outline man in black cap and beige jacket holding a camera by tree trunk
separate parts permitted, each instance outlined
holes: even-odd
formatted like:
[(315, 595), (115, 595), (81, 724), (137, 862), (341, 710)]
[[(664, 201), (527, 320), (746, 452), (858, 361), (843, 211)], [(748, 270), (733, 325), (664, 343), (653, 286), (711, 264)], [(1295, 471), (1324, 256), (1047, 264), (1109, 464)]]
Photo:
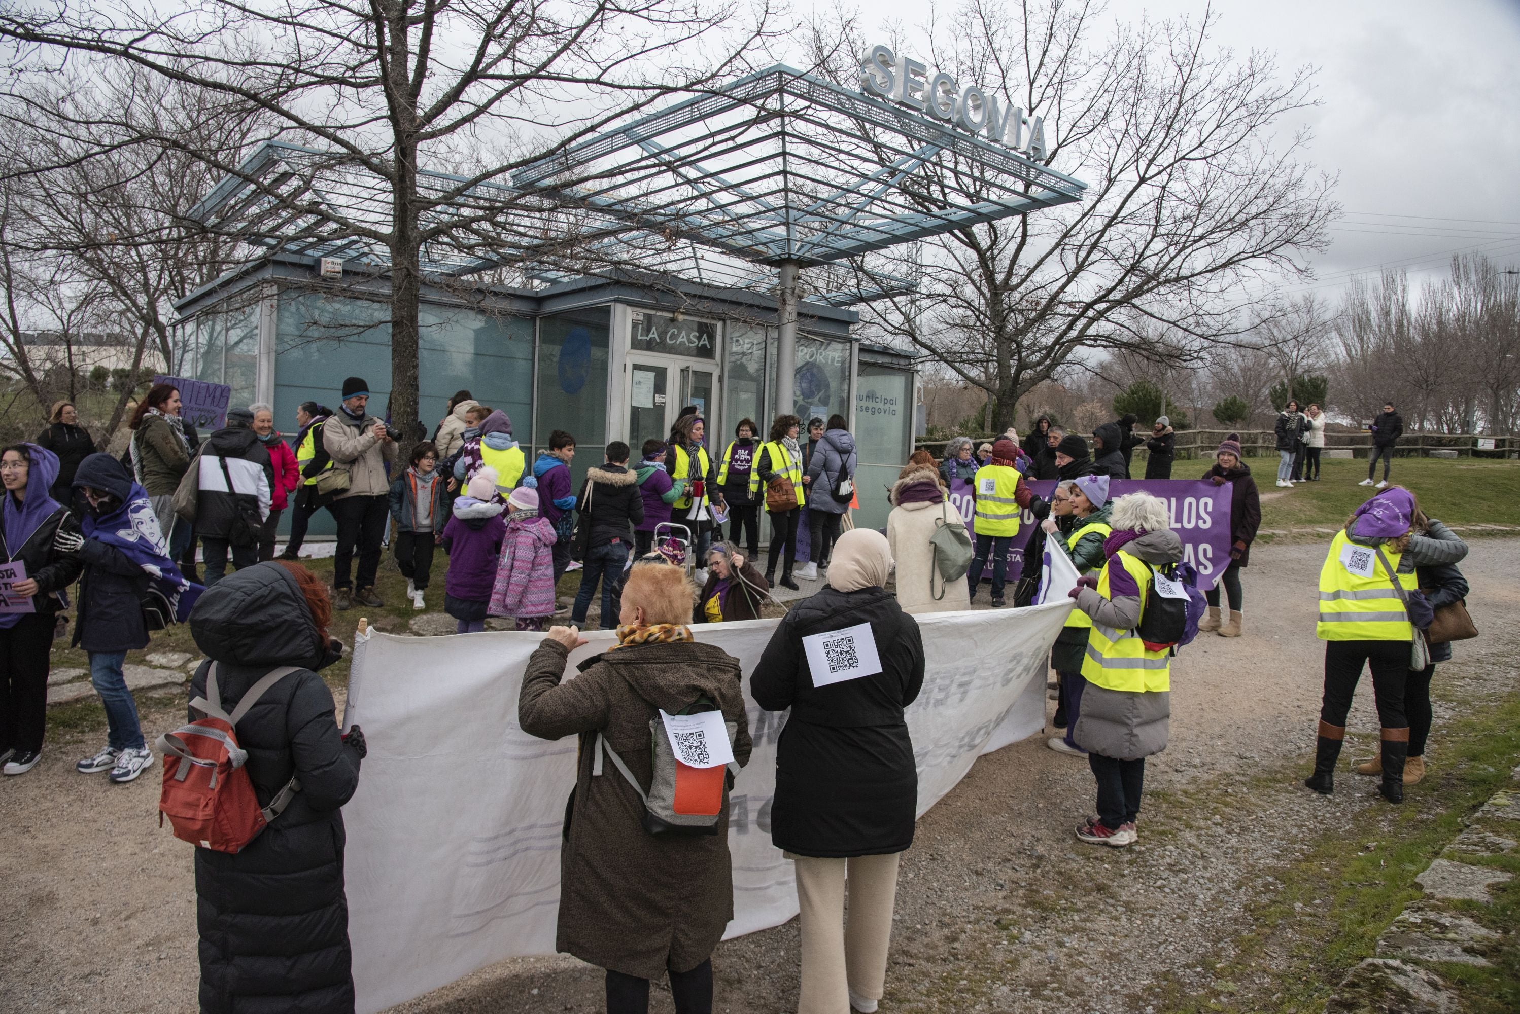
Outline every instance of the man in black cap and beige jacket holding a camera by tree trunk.
[[(369, 384), (359, 376), (344, 381), (344, 402), (322, 425), (322, 446), (334, 468), (348, 472), (348, 489), (337, 493), (328, 510), (337, 519), (337, 550), (333, 554), (333, 606), (353, 609), (385, 606), (375, 595), (380, 569), (380, 542), (391, 516), (386, 461), (395, 463), (395, 442), (401, 433), (365, 411)], [(350, 583), (354, 546), (359, 546), (359, 590)]]

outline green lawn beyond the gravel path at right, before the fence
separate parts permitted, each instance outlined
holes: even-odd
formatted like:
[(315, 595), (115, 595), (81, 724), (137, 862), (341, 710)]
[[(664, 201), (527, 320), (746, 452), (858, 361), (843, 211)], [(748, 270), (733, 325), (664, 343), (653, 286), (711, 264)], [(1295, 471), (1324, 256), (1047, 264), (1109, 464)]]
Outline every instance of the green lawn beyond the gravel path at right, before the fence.
[[(1300, 483), (1294, 489), (1272, 484), (1275, 458), (1246, 458), (1246, 464), (1262, 492), (1263, 528), (1338, 528), (1377, 492), (1357, 486), (1366, 478), (1363, 458), (1325, 458), (1318, 483)], [(1414, 490), (1420, 507), (1449, 525), (1520, 525), (1520, 461), (1395, 458), (1389, 481)]]

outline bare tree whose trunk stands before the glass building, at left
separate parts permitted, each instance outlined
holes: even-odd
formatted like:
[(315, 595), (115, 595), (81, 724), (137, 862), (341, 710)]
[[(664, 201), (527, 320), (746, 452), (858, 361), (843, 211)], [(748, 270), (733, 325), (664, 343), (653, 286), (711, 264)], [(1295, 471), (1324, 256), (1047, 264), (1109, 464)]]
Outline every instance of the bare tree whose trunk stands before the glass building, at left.
[[(663, 96), (704, 88), (763, 39), (768, 17), (762, 5), (736, 27), (737, 5), (681, 0), (55, 0), (0, 12), (0, 36), (33, 76), (81, 58), (126, 62), (205, 93), (211, 106), (260, 111), (277, 137), (321, 149), (295, 178), (263, 175), (135, 108), (111, 118), (240, 181), (257, 228), (293, 225), (388, 252), (389, 411), (404, 424), (418, 414), (424, 250), (496, 243), (511, 214), (529, 209), (496, 184)], [(439, 185), (424, 162), (470, 168)], [(334, 173), (378, 187), (378, 214), (324, 199), (313, 184)]]

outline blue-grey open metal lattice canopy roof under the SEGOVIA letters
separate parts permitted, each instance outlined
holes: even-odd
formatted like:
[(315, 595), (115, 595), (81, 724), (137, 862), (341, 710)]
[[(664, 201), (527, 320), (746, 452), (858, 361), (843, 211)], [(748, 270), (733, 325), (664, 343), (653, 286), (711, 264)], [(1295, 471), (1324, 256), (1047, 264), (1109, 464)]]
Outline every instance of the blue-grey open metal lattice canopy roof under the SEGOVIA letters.
[[(933, 185), (926, 175), (933, 173)], [(527, 288), (632, 269), (772, 291), (760, 264), (825, 266), (812, 296), (851, 305), (917, 281), (868, 255), (1037, 208), (1085, 185), (1009, 149), (775, 65), (518, 170), (511, 185), (420, 172), (453, 228), (423, 250), (432, 276), (508, 269)], [(190, 217), (245, 241), (374, 267), (391, 191), (344, 152), (266, 141)], [(901, 258), (910, 260), (910, 258)]]

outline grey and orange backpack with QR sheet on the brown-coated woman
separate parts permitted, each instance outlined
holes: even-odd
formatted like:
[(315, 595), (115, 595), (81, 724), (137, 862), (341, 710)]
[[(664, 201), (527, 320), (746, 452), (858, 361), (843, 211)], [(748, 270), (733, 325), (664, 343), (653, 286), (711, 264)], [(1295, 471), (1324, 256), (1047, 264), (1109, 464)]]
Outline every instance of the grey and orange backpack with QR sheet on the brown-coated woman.
[[(707, 697), (699, 697), (679, 713), (717, 710), (717, 706)], [(739, 723), (725, 721), (728, 745), (734, 745), (739, 733)], [(716, 768), (689, 768), (678, 764), (670, 741), (666, 738), (664, 723), (655, 713), (649, 720), (649, 760), (654, 777), (649, 791), (644, 792), (638, 779), (628, 770), (623, 759), (617, 756), (606, 736), (596, 733), (596, 757), (591, 760), (591, 777), (602, 774), (602, 753), (613, 760), (613, 767), (623, 779), (634, 786), (638, 798), (644, 803), (644, 830), (651, 835), (716, 835), (717, 818), (724, 812), (724, 794), (728, 791), (728, 774), (739, 774), (737, 764)]]

